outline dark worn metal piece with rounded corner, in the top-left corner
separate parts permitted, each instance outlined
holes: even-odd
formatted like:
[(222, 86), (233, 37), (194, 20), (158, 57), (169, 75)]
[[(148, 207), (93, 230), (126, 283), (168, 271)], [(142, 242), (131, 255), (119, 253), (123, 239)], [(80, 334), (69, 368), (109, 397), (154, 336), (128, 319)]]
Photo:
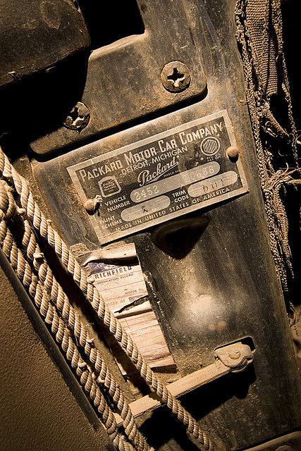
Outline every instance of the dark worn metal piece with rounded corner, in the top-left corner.
[(49, 68), (90, 44), (72, 0), (1, 0), (0, 86)]

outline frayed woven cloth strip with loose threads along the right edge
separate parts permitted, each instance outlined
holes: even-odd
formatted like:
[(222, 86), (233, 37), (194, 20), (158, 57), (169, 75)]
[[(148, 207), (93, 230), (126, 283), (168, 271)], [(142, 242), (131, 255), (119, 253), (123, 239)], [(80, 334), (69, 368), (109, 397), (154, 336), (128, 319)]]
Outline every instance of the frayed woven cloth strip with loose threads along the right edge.
[(281, 2), (238, 0), (235, 20), (271, 253), (293, 322), (293, 264), (286, 196), (287, 183), (293, 177), (300, 178), (300, 171), (297, 133), (283, 53)]

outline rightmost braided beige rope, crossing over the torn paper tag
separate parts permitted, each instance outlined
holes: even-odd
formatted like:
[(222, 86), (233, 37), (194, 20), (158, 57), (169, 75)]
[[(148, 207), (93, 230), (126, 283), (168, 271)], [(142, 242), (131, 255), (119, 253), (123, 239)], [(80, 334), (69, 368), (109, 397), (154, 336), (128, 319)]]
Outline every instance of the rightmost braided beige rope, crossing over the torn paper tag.
[(70, 253), (68, 246), (61, 239), (59, 234), (51, 226), (51, 223), (47, 221), (42, 211), (39, 209), (37, 202), (32, 196), (30, 187), (27, 181), (18, 174), (13, 168), (10, 161), (4, 152), (0, 149), (0, 173), (8, 180), (20, 196), (20, 204), (25, 209), (27, 217), (32, 222), (33, 227), (37, 230), (37, 233), (41, 235), (49, 245), (56, 252), (57, 257), (61, 260), (61, 263), (66, 268), (68, 273), (73, 276), (73, 280), (82, 290), (86, 299), (92, 305), (92, 308), (97, 313), (99, 319), (104, 325), (109, 328), (113, 333), (116, 340), (120, 343), (121, 347), (128, 355), (130, 360), (136, 366), (142, 378), (148, 383), (148, 385), (154, 390), (156, 395), (167, 405), (171, 412), (176, 415), (179, 421), (181, 421), (186, 427), (188, 433), (192, 435), (199, 443), (204, 447), (205, 451), (217, 451), (218, 448), (212, 442), (211, 438), (202, 431), (197, 421), (187, 412), (182, 404), (171, 395), (166, 388), (166, 385), (159, 380), (156, 374), (150, 369), (149, 365), (140, 354), (137, 349), (137, 345), (133, 342), (133, 339), (123, 330), (121, 323), (111, 313), (110, 309), (106, 307), (104, 299), (99, 295), (97, 288), (87, 280), (85, 271), (82, 270), (78, 261), (75, 260), (73, 254)]

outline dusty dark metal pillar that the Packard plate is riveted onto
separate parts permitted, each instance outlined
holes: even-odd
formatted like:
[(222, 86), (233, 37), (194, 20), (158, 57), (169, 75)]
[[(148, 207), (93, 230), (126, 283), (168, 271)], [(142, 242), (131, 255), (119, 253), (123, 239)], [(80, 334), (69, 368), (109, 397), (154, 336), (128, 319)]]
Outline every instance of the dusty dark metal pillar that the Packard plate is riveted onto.
[[(48, 161), (32, 161), (32, 167), (49, 210), (55, 212), (56, 226), (68, 244), (82, 242), (90, 250), (97, 249), (99, 239), (71, 183), (68, 166), (104, 156), (145, 137), (165, 132), (171, 126), (177, 127), (221, 110), (228, 111), (250, 192), (135, 233), (125, 241), (135, 242), (147, 280), (149, 300), (178, 367), (177, 377), (197, 371), (200, 363), (212, 364), (214, 352), (210, 350), (216, 347), (242, 336), (254, 340), (258, 349), (254, 366), (183, 397), (185, 407), (211, 435), (217, 439), (223, 437), (229, 449), (240, 450), (300, 426), (300, 397), (295, 389), (298, 374), (269, 249), (242, 68), (235, 42), (235, 2), (229, 0), (223, 8), (214, 0), (205, 4), (199, 1), (184, 4), (185, 17), (192, 25), (191, 39), (199, 52), (197, 61), (202, 59), (204, 65), (207, 95), (202, 99), (195, 97), (192, 104), (185, 107), (179, 104), (178, 110), (168, 111), (152, 121), (137, 123), (106, 136), (97, 146), (74, 149)], [(177, 26), (185, 30), (187, 24), (183, 23), (183, 18), (177, 20)], [(185, 49), (182, 51), (185, 53)], [(182, 51), (170, 59), (185, 61)], [(109, 49), (106, 52), (109, 58)], [(141, 57), (137, 50), (136, 56), (138, 54)], [(115, 61), (114, 51), (111, 56)], [(123, 58), (120, 63), (123, 67)], [(102, 78), (106, 80), (103, 74), (94, 75), (95, 80)], [(154, 79), (152, 75), (152, 82)], [(144, 80), (143, 74), (141, 80)], [(193, 80), (195, 76), (191, 87)], [(115, 82), (120, 85), (120, 78), (117, 77)], [(159, 84), (159, 89), (164, 89), (161, 80)], [(189, 90), (190, 87), (180, 95)], [(136, 109), (141, 104), (140, 97), (129, 99), (127, 93), (128, 90), (121, 106), (116, 102), (107, 106), (108, 118), (113, 111), (116, 119), (121, 121), (128, 118), (128, 111), (140, 115)], [(161, 99), (170, 95), (165, 89), (161, 93)], [(153, 99), (153, 94), (149, 94), (147, 101)], [(170, 104), (174, 101), (169, 100)], [(158, 104), (156, 108), (159, 109)], [(121, 109), (122, 117), (119, 116)], [(103, 118), (102, 113), (99, 113), (98, 131), (102, 130), (100, 118)], [(44, 141), (46, 146), (50, 137), (47, 140)], [(62, 135), (61, 144), (66, 144)], [(237, 150), (229, 152), (237, 158)], [(145, 420), (143, 430), (156, 449), (164, 449), (166, 443), (176, 449), (194, 449), (165, 409), (153, 412), (151, 418)]]

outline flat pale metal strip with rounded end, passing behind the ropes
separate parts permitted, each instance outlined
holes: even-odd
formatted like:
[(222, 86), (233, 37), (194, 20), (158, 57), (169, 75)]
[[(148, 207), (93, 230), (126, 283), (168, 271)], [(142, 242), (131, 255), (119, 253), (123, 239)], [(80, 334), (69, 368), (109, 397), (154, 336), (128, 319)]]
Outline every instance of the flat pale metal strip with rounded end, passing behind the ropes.
[[(224, 376), (228, 373), (238, 373), (244, 371), (247, 365), (253, 362), (254, 351), (250, 346), (241, 341), (216, 348), (214, 352), (216, 361), (202, 369), (194, 371), (188, 376), (178, 379), (167, 385), (168, 390), (175, 397), (185, 395), (195, 388), (205, 385), (211, 381)], [(140, 416), (160, 407), (164, 403), (154, 393), (146, 395), (139, 400), (130, 403), (130, 409), (133, 416)], [(115, 414), (118, 426), (123, 424), (121, 416)]]

